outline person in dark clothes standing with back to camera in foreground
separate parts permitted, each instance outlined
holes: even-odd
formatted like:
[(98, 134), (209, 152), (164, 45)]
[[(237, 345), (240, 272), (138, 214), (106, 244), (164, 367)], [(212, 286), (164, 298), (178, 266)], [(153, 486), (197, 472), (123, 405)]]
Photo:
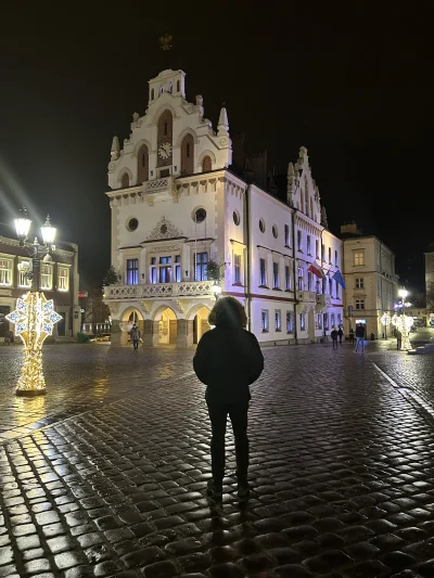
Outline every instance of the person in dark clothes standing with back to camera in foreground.
[(212, 424), (212, 472), (208, 494), (220, 498), (225, 477), (225, 435), (228, 415), (235, 438), (238, 494), (246, 498), (248, 438), (247, 412), (250, 385), (264, 369), (264, 357), (253, 333), (244, 327), (243, 306), (233, 297), (218, 299), (208, 322), (215, 327), (202, 336), (193, 358), (193, 368), (206, 385), (205, 399)]

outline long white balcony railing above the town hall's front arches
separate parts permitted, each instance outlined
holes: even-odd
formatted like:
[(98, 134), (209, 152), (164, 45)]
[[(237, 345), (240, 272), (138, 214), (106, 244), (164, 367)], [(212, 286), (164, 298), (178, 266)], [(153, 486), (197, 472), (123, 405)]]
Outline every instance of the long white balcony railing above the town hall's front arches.
[(182, 281), (180, 283), (146, 283), (143, 285), (110, 285), (104, 287), (105, 299), (165, 299), (214, 295), (214, 281)]

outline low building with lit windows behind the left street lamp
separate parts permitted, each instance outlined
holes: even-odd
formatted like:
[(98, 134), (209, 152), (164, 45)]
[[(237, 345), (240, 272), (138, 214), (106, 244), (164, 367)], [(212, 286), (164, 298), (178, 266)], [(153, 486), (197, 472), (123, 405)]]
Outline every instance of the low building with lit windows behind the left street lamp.
[[(22, 297), (31, 290), (31, 282), (20, 271), (22, 262), (30, 258), (20, 242), (0, 236), (0, 339), (10, 329), (4, 318)], [(54, 324), (54, 336), (75, 336), (80, 331), (80, 307), (78, 305), (78, 246), (63, 243), (52, 255), (51, 261), (42, 261), (40, 268), (40, 291), (47, 299), (53, 299), (55, 311), (62, 320)], [(13, 329), (13, 324), (11, 326)]]

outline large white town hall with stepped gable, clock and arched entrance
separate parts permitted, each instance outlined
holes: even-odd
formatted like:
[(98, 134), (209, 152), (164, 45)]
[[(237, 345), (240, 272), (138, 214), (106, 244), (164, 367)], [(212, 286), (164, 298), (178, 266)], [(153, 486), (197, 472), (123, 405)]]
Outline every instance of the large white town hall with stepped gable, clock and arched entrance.
[[(145, 114), (133, 115), (123, 150), (113, 140), (106, 194), (120, 281), (104, 292), (112, 344), (127, 342), (132, 322), (146, 346), (197, 343), (217, 283), (244, 305), (259, 342), (317, 342), (343, 321), (331, 279), (342, 243), (327, 229), (307, 151), (290, 163), (282, 197), (235, 175), (226, 110), (214, 131), (203, 98), (186, 100), (184, 76), (150, 80)], [(328, 278), (308, 270), (315, 261)]]

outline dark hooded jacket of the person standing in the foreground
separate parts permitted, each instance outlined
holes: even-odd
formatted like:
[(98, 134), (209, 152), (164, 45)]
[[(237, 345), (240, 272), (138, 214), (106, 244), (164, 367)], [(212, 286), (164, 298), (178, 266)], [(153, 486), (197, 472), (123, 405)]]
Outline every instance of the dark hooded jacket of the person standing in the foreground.
[(226, 301), (216, 316), (216, 326), (204, 333), (193, 358), (193, 368), (206, 387), (208, 402), (248, 402), (248, 386), (261, 374), (264, 357), (253, 333), (241, 326), (238, 305)]

